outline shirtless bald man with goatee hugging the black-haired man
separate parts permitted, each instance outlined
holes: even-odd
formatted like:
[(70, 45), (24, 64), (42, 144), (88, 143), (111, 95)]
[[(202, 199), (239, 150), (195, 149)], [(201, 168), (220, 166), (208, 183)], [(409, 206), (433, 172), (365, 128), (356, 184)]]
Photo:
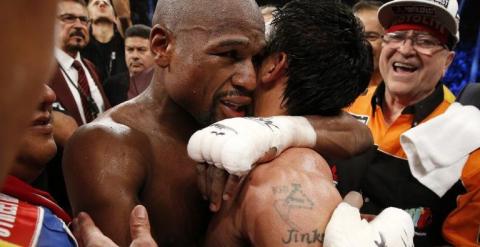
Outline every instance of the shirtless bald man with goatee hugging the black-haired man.
[[(88, 212), (117, 244), (130, 242), (128, 216), (142, 203), (160, 246), (195, 246), (210, 215), (186, 144), (212, 121), (249, 113), (264, 23), (253, 0), (161, 0), (154, 24), (152, 83), (74, 134), (65, 150), (65, 180), (74, 212)], [(335, 131), (317, 132), (320, 151), (349, 155), (370, 143), (355, 120), (316, 119), (320, 126), (338, 121), (331, 124)]]

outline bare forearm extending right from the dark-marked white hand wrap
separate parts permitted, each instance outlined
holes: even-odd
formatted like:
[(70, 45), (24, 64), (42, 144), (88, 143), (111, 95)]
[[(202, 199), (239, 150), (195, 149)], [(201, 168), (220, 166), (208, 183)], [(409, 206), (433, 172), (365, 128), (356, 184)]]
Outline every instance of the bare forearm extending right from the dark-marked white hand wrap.
[(307, 119), (317, 134), (314, 149), (326, 158), (349, 158), (373, 145), (367, 125), (343, 111), (337, 116), (307, 116)]

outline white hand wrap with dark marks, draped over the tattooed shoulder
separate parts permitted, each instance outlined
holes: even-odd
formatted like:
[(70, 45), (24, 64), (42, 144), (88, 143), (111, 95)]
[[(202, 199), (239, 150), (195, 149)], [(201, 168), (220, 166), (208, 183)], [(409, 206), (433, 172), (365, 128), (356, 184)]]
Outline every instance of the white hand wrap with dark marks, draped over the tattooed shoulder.
[(313, 147), (316, 133), (304, 117), (230, 118), (195, 132), (188, 155), (231, 174), (244, 175), (271, 148)]

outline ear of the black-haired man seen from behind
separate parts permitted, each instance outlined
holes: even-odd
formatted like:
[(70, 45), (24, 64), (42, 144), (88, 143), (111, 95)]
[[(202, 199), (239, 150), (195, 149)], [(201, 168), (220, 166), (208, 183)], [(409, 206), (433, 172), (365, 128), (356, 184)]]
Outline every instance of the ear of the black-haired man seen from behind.
[(260, 83), (270, 84), (286, 76), (287, 67), (287, 54), (277, 52), (269, 55), (263, 60), (259, 70)]

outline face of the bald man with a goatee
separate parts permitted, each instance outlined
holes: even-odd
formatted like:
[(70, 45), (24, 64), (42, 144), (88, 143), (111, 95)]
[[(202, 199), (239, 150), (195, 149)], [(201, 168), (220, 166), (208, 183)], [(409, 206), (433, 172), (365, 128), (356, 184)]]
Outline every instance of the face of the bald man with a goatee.
[(252, 103), (252, 60), (265, 37), (258, 8), (245, 2), (227, 4), (219, 13), (191, 16), (177, 28), (165, 87), (201, 124), (245, 116)]

